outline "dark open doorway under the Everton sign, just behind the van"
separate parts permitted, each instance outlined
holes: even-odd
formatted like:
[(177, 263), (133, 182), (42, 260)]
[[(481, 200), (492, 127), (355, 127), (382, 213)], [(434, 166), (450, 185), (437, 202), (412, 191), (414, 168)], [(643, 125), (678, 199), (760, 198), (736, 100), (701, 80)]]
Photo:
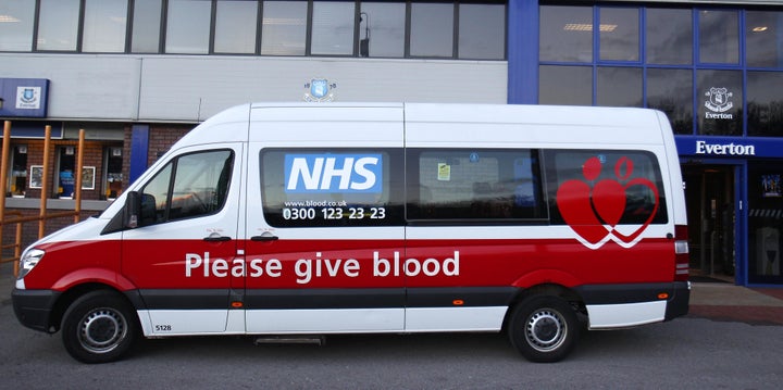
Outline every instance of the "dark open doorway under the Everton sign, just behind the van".
[(735, 166), (684, 164), (683, 179), (691, 274), (734, 282), (737, 257)]

